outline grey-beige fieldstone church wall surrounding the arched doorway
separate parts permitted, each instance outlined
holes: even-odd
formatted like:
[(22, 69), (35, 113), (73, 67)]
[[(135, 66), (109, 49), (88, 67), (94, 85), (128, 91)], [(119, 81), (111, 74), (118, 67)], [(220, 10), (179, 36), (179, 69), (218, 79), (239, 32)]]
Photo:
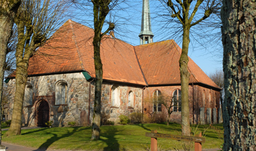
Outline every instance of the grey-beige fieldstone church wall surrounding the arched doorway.
[[(65, 83), (67, 87), (65, 103), (58, 103), (57, 85)], [(33, 90), (33, 99), (29, 104), (27, 87), (25, 90), (24, 108), (22, 115), (23, 126), (37, 126), (38, 104), (40, 101), (47, 101), (49, 104), (49, 120), (53, 121), (54, 126), (67, 126), (68, 122), (76, 122), (77, 126), (87, 126), (92, 124), (94, 82), (88, 82), (83, 73), (67, 73), (60, 75), (45, 75), (28, 77), (29, 87)], [(129, 115), (134, 111), (142, 111), (142, 89), (132, 85), (115, 86), (120, 92), (120, 105), (111, 106), (111, 87), (113, 83), (102, 83), (102, 122), (113, 120), (118, 122), (119, 115)], [(127, 105), (129, 92), (134, 93), (134, 106)], [(15, 94), (15, 79), (8, 82), (8, 93), (10, 103), (8, 104), (8, 120), (12, 119), (13, 100)], [(60, 93), (60, 92), (59, 92)], [(90, 94), (89, 94), (90, 93)]]

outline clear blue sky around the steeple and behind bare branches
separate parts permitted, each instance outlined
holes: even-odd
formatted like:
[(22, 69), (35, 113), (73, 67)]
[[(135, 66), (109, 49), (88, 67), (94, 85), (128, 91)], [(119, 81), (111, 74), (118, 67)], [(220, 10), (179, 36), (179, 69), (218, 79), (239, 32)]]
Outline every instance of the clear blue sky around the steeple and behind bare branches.
[[(142, 0), (130, 0), (129, 3), (120, 4), (120, 8), (115, 8), (114, 11), (111, 11), (106, 17), (106, 21), (115, 22), (116, 38), (132, 45), (140, 45), (138, 34), (141, 30)], [(83, 16), (83, 13), (87, 13), (87, 15)], [(80, 20), (78, 22), (81, 22), (81, 24), (93, 28), (92, 10), (89, 8), (83, 13), (81, 15), (83, 17), (76, 15), (77, 18), (74, 20)], [(173, 22), (172, 18), (168, 16), (170, 13), (164, 5), (157, 0), (150, 0), (150, 14), (152, 32), (155, 35), (154, 42), (173, 39), (182, 48), (182, 32), (177, 31), (179, 24)], [(196, 15), (200, 18), (204, 13), (198, 11)], [(216, 20), (216, 18), (209, 18), (209, 20)], [(106, 27), (108, 25), (105, 25), (104, 29)], [(191, 33), (193, 34), (190, 36), (191, 42), (189, 43), (188, 55), (207, 75), (213, 73), (216, 69), (222, 70), (221, 35), (218, 32), (220, 32), (219, 28), (208, 27), (208, 25), (204, 24), (195, 25), (191, 28)], [(212, 35), (215, 34), (218, 36), (212, 39)]]

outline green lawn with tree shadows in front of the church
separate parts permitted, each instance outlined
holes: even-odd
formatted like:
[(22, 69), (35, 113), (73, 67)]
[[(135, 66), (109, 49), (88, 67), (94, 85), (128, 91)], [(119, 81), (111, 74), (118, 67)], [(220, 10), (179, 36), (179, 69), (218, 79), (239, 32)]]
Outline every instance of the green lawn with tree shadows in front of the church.
[[(24, 129), (19, 136), (3, 138), (3, 141), (33, 148), (65, 150), (147, 150), (150, 138), (145, 133), (157, 129), (157, 133), (181, 134), (180, 124), (134, 124), (100, 127), (100, 140), (91, 141), (92, 127), (52, 127)], [(202, 131), (206, 143), (203, 148), (218, 148), (223, 144), (223, 126), (191, 126), (191, 131)], [(3, 131), (3, 134), (6, 131)], [(157, 143), (163, 150), (180, 148), (182, 141), (161, 139)]]

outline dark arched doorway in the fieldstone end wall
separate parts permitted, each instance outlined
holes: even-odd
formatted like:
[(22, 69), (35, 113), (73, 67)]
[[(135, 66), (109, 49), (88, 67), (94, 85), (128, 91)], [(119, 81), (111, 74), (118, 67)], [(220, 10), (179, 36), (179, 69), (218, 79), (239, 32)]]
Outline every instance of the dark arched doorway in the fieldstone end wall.
[(47, 101), (40, 101), (37, 108), (37, 126), (46, 126), (45, 122), (49, 121), (49, 104)]

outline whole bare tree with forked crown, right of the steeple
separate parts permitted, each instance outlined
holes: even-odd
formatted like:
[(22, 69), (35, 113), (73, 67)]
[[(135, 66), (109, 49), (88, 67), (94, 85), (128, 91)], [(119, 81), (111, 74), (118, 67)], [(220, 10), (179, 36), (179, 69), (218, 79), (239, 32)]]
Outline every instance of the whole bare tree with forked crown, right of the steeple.
[[(194, 25), (200, 24), (206, 18), (214, 13), (218, 13), (221, 3), (219, 0), (160, 0), (166, 4), (166, 8), (170, 11), (173, 22), (179, 22), (181, 24), (182, 32), (182, 54), (180, 55), (180, 80), (181, 80), (181, 103), (182, 103), (182, 135), (190, 135), (189, 127), (189, 76), (188, 71), (188, 48), (189, 48), (189, 35), (190, 29)], [(198, 10), (199, 9), (199, 10)], [(202, 11), (204, 14), (202, 15)]]

